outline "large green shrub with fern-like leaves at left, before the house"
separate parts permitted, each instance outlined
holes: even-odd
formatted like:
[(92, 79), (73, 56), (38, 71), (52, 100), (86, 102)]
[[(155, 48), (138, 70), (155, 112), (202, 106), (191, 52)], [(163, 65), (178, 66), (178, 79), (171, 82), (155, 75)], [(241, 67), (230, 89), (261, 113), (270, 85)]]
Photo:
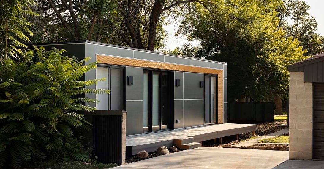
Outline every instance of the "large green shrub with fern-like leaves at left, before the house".
[(0, 63), (0, 166), (20, 168), (37, 160), (90, 162), (90, 153), (80, 141), (91, 128), (84, 112), (86, 93), (109, 90), (86, 89), (100, 80), (80, 80), (96, 67), (85, 58), (62, 56), (65, 50), (43, 47), (28, 50), (19, 61)]

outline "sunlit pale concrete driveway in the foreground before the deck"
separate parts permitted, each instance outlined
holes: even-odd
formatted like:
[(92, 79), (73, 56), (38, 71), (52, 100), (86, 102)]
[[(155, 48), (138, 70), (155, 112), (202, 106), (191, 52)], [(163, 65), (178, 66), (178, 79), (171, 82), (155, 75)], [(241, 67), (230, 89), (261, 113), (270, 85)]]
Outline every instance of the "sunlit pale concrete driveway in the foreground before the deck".
[(117, 168), (273, 168), (289, 158), (288, 151), (199, 147)]

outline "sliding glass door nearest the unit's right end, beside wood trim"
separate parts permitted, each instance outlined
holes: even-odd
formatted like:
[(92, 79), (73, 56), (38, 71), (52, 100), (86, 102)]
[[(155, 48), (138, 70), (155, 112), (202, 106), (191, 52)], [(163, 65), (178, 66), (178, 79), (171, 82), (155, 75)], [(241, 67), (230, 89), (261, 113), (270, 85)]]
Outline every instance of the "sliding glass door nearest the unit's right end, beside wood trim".
[(217, 77), (205, 75), (205, 124), (217, 123)]

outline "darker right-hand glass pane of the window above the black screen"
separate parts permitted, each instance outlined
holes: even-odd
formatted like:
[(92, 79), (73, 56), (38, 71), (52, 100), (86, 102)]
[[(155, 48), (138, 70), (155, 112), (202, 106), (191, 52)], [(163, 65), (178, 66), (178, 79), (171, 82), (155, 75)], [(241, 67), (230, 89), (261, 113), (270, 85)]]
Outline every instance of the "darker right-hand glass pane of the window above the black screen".
[(122, 69), (110, 68), (110, 97), (111, 110), (122, 110)]

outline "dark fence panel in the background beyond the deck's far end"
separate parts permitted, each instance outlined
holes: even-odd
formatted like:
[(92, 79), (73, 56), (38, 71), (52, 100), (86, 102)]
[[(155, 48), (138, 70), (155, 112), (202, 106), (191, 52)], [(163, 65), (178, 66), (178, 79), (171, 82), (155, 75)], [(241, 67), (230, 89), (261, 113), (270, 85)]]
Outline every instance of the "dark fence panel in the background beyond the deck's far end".
[(227, 109), (228, 122), (236, 121), (274, 121), (273, 102), (229, 103)]

